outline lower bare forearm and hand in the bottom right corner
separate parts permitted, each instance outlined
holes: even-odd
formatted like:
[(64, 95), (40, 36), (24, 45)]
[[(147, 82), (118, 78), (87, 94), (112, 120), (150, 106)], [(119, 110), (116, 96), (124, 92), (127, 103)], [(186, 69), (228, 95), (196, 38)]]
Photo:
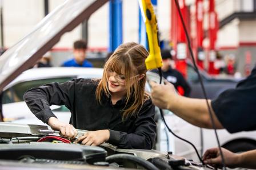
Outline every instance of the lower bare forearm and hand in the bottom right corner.
[[(256, 168), (256, 150), (243, 152), (241, 154), (235, 154), (225, 148), (221, 148), (221, 150), (227, 167)], [(203, 154), (203, 161), (206, 164), (214, 165), (215, 167), (222, 165), (219, 148), (211, 148), (207, 150), (205, 154)]]

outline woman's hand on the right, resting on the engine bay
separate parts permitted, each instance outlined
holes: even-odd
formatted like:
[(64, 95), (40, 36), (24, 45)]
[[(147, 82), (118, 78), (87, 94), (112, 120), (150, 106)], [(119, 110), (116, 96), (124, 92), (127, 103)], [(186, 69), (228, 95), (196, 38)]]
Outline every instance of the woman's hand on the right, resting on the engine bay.
[(85, 132), (82, 136), (77, 138), (74, 143), (79, 143), (90, 146), (99, 146), (103, 142), (109, 140), (109, 130), (97, 130)]

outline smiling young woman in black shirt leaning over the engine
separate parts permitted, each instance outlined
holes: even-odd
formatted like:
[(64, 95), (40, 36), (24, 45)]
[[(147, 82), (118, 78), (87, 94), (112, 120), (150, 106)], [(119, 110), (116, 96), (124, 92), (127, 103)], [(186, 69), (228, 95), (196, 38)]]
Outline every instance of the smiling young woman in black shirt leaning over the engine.
[[(89, 130), (75, 142), (98, 146), (151, 149), (156, 136), (155, 107), (145, 93), (149, 55), (137, 43), (120, 45), (107, 60), (101, 80), (79, 78), (28, 90), (24, 100), (38, 119), (66, 138)], [(65, 105), (70, 124), (59, 122), (50, 105)]]

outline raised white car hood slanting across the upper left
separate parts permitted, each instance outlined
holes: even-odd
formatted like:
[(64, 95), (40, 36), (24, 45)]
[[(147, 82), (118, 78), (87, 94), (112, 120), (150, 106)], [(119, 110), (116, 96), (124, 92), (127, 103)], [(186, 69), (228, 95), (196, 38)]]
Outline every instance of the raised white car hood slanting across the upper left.
[(69, 0), (58, 6), (0, 57), (0, 92), (15, 77), (33, 65), (55, 45), (65, 32), (89, 19), (107, 0)]

